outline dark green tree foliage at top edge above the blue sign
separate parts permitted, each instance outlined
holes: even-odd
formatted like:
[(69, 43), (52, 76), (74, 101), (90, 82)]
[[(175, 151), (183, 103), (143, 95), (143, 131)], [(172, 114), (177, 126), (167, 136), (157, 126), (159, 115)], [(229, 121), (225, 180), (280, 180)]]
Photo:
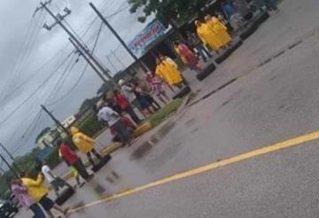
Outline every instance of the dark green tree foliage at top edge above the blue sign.
[(140, 22), (144, 22), (152, 13), (165, 26), (174, 20), (181, 22), (188, 20), (197, 14), (209, 2), (208, 0), (128, 0), (131, 5), (130, 12), (136, 13), (142, 10), (144, 15), (139, 17)]

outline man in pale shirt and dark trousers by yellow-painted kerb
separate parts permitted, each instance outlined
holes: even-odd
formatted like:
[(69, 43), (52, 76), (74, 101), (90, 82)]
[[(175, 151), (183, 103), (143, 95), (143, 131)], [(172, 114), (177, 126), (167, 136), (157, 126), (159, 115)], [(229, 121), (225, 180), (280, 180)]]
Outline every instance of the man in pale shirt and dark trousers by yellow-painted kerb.
[(97, 118), (100, 122), (107, 123), (113, 132), (116, 132), (116, 136), (121, 139), (123, 146), (131, 143), (131, 135), (128, 132), (128, 128), (121, 121), (121, 116), (113, 109), (105, 106), (104, 101), (97, 102)]

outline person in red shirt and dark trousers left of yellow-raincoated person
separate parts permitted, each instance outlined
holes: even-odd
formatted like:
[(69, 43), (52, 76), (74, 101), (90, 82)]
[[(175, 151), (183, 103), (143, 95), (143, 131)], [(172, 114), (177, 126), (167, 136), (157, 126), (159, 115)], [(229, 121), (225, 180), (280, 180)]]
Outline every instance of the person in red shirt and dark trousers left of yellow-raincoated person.
[(93, 174), (89, 175), (80, 157), (66, 144), (66, 142), (61, 140), (58, 141), (58, 151), (66, 164), (73, 166), (74, 169), (78, 170), (80, 176), (85, 179), (85, 181), (89, 182), (89, 180), (94, 177)]

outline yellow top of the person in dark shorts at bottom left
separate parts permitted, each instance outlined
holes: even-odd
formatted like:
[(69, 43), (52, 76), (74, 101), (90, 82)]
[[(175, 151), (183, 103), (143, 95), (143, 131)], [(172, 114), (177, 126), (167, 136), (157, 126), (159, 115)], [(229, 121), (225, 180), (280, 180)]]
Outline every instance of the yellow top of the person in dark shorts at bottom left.
[(43, 184), (44, 178), (41, 174), (38, 175), (37, 179), (22, 178), (22, 184), (27, 186), (27, 192), (35, 201), (39, 201), (43, 196), (49, 193), (48, 187)]

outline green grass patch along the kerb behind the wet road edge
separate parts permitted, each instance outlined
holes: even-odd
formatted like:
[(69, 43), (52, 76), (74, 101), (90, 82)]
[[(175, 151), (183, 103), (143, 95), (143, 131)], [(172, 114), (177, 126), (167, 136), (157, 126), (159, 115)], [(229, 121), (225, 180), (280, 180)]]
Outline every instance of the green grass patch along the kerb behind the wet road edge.
[(159, 125), (163, 120), (169, 117), (172, 113), (174, 113), (181, 106), (183, 100), (176, 99), (169, 104), (167, 104), (164, 108), (159, 109), (155, 114), (148, 118), (148, 121), (151, 122), (152, 128)]

